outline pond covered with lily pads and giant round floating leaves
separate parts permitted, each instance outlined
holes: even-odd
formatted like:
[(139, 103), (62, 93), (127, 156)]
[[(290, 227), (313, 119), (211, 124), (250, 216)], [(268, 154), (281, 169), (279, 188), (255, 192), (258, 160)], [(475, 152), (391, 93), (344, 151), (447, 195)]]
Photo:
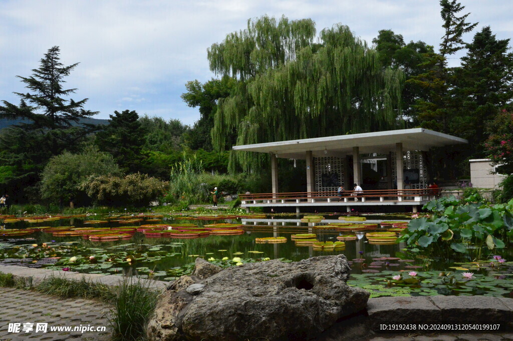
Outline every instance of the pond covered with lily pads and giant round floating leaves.
[(397, 237), (411, 214), (1, 216), (0, 264), (172, 280), (196, 257), (222, 267), (344, 254), (371, 297), (513, 295), (508, 248), (486, 259), (427, 257)]

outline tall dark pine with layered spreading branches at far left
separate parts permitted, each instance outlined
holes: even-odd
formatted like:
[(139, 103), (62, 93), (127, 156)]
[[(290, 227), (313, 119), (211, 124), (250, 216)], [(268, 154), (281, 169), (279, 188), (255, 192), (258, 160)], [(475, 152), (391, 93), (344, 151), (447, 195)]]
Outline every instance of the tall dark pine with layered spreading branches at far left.
[(76, 151), (78, 143), (94, 127), (81, 124), (81, 119), (96, 112), (85, 110), (87, 98), (75, 102), (68, 99), (76, 89), (65, 89), (65, 77), (78, 65), (64, 66), (60, 49), (52, 47), (41, 59), (40, 67), (29, 77), (18, 76), (30, 91), (15, 92), (19, 105), (2, 101), (0, 117), (19, 123), (0, 134), (1, 160), (11, 167), (4, 184), (14, 189), (34, 185), (51, 156), (64, 150)]

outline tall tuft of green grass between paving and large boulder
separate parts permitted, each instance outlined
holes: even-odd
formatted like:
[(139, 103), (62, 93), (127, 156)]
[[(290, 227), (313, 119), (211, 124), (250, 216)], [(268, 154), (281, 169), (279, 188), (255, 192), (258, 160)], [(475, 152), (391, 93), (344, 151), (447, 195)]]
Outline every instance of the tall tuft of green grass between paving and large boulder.
[(144, 338), (147, 320), (155, 309), (159, 295), (149, 286), (149, 281), (142, 284), (132, 277), (123, 278), (109, 317), (114, 329), (113, 340), (136, 341)]

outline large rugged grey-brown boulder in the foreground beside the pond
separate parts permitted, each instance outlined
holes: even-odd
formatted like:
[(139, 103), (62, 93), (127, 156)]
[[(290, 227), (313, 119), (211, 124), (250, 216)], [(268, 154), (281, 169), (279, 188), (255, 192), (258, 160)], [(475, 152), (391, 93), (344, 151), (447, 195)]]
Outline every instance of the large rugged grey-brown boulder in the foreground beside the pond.
[(147, 328), (150, 341), (235, 341), (263, 338), (302, 340), (339, 318), (363, 310), (369, 293), (348, 287), (344, 255), (294, 263), (279, 259), (230, 267), (198, 280), (193, 296), (182, 276), (161, 296)]

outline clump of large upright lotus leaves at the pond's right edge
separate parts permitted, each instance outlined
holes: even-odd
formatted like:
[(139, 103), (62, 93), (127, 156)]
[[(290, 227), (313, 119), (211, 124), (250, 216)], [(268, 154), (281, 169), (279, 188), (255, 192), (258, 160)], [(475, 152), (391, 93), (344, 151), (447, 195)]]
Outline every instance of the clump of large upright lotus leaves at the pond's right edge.
[(481, 259), (484, 245), (489, 250), (504, 248), (504, 240), (513, 235), (513, 200), (489, 206), (473, 199), (475, 195), (463, 203), (453, 196), (431, 200), (424, 206), (431, 216), (411, 220), (401, 239), (413, 251), (421, 248), (446, 259), (453, 251)]

